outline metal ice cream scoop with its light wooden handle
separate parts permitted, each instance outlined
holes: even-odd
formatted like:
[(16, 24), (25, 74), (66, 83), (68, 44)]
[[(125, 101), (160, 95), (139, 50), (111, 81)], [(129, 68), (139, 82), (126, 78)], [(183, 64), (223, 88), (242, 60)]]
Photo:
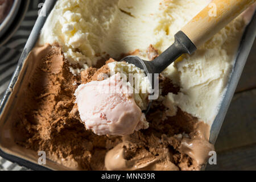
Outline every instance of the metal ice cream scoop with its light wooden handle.
[[(175, 35), (175, 42), (152, 61), (127, 56), (121, 61), (144, 69), (154, 89), (154, 74), (161, 73), (184, 53), (192, 54), (203, 43), (240, 15), (255, 0), (213, 0)], [(148, 108), (150, 104), (148, 105)], [(148, 109), (147, 109), (148, 110)]]

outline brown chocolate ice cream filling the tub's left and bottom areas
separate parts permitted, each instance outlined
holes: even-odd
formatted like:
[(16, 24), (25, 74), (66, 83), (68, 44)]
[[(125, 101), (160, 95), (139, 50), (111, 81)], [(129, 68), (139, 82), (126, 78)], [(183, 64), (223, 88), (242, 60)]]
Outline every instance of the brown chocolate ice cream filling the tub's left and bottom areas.
[[(180, 109), (175, 117), (167, 117), (162, 102), (155, 102), (147, 115), (150, 123), (147, 130), (125, 137), (99, 136), (86, 130), (73, 93), (80, 84), (97, 81), (98, 75), (109, 73), (108, 63), (113, 59), (100, 69), (86, 69), (81, 76), (69, 72), (68, 61), (58, 45), (36, 47), (28, 60), (36, 65), (27, 88), (22, 91), (24, 99), (19, 103), (22, 107), (18, 108), (13, 126), (15, 141), (20, 146), (46, 151), (48, 159), (69, 169), (83, 170), (200, 169), (208, 151), (213, 150), (208, 142), (207, 124)], [(163, 94), (179, 91), (163, 76), (160, 87)], [(206, 145), (197, 145), (202, 148), (196, 150), (185, 144), (197, 141)], [(120, 152), (122, 158), (112, 160)]]

